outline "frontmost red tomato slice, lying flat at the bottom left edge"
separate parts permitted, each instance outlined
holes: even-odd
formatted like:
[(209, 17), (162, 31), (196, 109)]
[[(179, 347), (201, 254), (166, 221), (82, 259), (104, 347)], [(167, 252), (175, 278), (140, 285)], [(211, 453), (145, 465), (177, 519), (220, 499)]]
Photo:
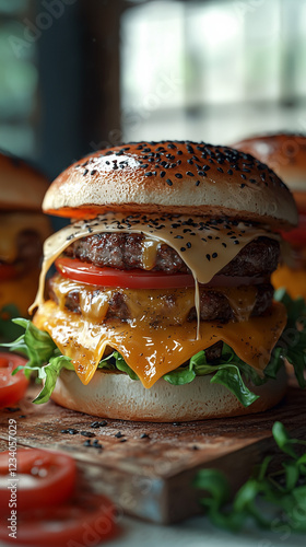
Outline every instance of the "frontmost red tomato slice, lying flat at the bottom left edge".
[(55, 508), (17, 511), (16, 537), (9, 536), (2, 520), (0, 539), (32, 547), (89, 547), (116, 534), (115, 520), (116, 508), (107, 498), (82, 493)]

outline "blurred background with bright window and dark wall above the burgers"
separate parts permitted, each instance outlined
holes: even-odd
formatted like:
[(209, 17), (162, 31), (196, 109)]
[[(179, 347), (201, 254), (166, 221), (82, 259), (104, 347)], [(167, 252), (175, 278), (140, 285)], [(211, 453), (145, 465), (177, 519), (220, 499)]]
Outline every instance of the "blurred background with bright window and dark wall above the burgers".
[(0, 147), (50, 179), (129, 140), (306, 129), (305, 0), (0, 0)]

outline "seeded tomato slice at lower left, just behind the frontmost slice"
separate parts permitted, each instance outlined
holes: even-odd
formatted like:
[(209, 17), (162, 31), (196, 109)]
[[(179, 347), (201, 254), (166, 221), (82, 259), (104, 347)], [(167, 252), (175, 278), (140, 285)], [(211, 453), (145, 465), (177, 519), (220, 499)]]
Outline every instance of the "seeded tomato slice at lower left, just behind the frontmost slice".
[(17, 509), (39, 509), (57, 505), (72, 496), (75, 463), (68, 454), (36, 449), (17, 449), (0, 454), (0, 509), (8, 510), (16, 481)]

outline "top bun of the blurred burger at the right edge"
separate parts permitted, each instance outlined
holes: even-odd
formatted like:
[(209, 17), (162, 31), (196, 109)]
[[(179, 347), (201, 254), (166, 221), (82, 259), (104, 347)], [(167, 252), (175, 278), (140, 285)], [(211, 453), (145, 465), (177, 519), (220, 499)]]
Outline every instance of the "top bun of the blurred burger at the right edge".
[(242, 140), (234, 148), (267, 163), (294, 191), (306, 191), (306, 136), (272, 133)]

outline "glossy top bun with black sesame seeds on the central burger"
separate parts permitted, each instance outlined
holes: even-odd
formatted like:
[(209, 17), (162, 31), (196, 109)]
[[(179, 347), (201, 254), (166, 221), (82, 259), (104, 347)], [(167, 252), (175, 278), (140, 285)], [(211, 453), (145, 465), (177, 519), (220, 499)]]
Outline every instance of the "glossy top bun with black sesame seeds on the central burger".
[(239, 218), (290, 228), (295, 203), (251, 155), (197, 142), (140, 142), (96, 152), (51, 184), (43, 209), (60, 217), (107, 210)]

